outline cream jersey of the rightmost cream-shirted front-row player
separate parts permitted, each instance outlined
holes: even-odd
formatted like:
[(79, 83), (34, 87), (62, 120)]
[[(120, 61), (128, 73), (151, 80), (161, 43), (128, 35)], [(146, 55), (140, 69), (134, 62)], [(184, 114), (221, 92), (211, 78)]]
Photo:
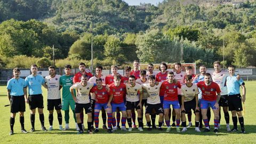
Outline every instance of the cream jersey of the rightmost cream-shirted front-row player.
[(193, 100), (196, 97), (196, 94), (198, 94), (198, 87), (196, 84), (192, 84), (192, 86), (188, 87), (186, 84), (181, 86), (181, 95), (184, 96), (184, 101), (190, 101)]

